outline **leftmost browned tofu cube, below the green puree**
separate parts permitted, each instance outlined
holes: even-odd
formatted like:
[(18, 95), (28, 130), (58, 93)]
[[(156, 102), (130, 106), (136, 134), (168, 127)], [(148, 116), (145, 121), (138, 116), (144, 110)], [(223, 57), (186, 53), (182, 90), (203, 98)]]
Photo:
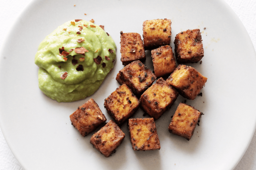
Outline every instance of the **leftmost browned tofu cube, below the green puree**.
[(70, 120), (82, 136), (93, 132), (99, 125), (106, 121), (105, 115), (101, 112), (98, 104), (90, 99), (71, 114)]

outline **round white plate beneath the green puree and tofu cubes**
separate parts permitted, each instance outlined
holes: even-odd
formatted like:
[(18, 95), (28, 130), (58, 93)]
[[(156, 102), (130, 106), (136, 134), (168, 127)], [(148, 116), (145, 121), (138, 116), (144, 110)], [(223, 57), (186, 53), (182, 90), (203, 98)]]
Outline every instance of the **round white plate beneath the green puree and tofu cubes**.
[[(76, 6), (73, 6), (74, 3)], [(84, 13), (87, 15), (85, 16)], [(171, 46), (177, 33), (200, 28), (202, 64), (189, 64), (208, 78), (202, 97), (187, 104), (204, 113), (190, 141), (170, 134), (168, 125), (180, 101), (156, 121), (161, 149), (133, 151), (127, 125), (117, 152), (109, 158), (82, 137), (69, 115), (89, 98), (58, 103), (38, 88), (34, 55), (46, 35), (71, 19), (104, 25), (120, 50), (120, 31), (142, 35), (144, 20), (172, 20)], [(206, 28), (203, 30), (203, 28)], [(145, 64), (152, 67), (150, 52)], [(196, 1), (33, 1), (14, 22), (0, 52), (0, 125), (13, 154), (25, 170), (198, 169), (232, 170), (246, 151), (256, 127), (256, 54), (238, 17), (221, 0)], [(91, 96), (102, 112), (104, 99), (117, 87), (115, 68)], [(204, 102), (204, 103), (203, 103)], [(133, 117), (143, 117), (139, 110)], [(96, 131), (95, 131), (96, 132)]]

